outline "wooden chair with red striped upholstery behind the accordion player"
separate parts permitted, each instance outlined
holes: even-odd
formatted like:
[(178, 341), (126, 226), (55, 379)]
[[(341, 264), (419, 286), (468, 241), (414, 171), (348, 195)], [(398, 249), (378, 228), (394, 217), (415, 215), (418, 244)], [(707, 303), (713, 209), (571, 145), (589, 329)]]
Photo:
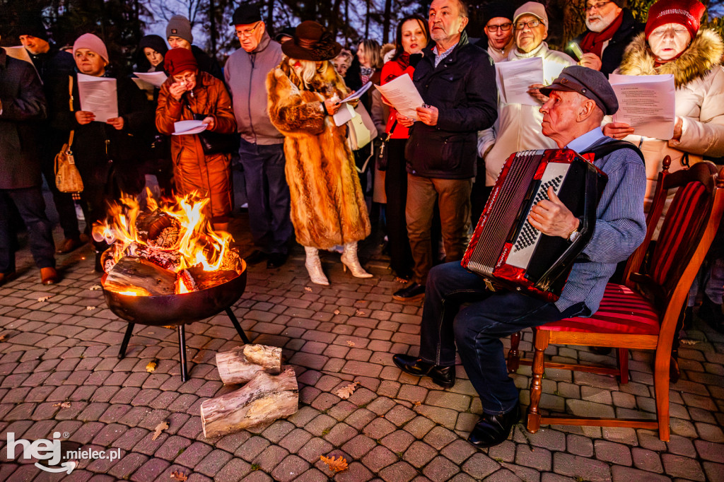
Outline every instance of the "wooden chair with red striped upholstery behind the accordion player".
[[(670, 160), (665, 160), (664, 169), (659, 174), (654, 202), (647, 218), (647, 234), (628, 260), (624, 284), (609, 283), (599, 310), (590, 318), (567, 318), (534, 328), (531, 404), (526, 418), (526, 428), (531, 433), (538, 431), (542, 423), (658, 428), (660, 439), (669, 440), (669, 364), (676, 324), (724, 211), (724, 169), (717, 176), (714, 164), (701, 162), (691, 169), (669, 173), (669, 164)], [(674, 188), (678, 190), (665, 216), (658, 241), (644, 263), (666, 195)], [(549, 344), (656, 350), (654, 392), (657, 420), (542, 415), (539, 402), (546, 366), (619, 374), (622, 382), (628, 379), (622, 371), (626, 357), (620, 356), (620, 368), (605, 367), (603, 370), (592, 365), (546, 363), (544, 351)], [(520, 361), (523, 363), (524, 360)]]

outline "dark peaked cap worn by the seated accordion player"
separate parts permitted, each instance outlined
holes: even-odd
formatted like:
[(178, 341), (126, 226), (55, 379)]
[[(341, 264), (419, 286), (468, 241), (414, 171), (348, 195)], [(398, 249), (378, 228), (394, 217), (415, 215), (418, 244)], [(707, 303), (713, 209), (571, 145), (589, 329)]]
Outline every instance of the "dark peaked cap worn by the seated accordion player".
[(581, 67), (580, 65), (565, 67), (557, 79), (551, 85), (540, 89), (540, 92), (544, 96), (549, 96), (551, 90), (578, 92), (581, 96), (594, 101), (607, 116), (618, 111), (616, 94), (613, 92), (613, 88), (608, 83), (606, 76), (588, 67)]

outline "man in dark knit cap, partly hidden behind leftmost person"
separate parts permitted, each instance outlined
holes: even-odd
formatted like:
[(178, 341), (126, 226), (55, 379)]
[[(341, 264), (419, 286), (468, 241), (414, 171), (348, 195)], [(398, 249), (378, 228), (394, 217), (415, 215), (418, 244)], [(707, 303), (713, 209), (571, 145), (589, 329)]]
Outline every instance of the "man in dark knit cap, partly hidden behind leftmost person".
[(51, 127), (57, 114), (54, 96), (58, 91), (57, 85), (67, 85), (68, 77), (73, 75), (75, 61), (72, 54), (59, 51), (56, 46), (49, 43), (48, 34), (43, 22), (34, 18), (25, 22), (20, 28), (20, 43), (25, 46), (30, 59), (33, 60), (35, 70), (43, 80), (43, 93), (48, 101), (48, 120), (41, 125), (43, 143), (40, 145), (41, 171), (50, 192), (53, 194), (55, 208), (58, 211), (60, 226), (63, 229), (64, 241), (58, 247), (58, 253), (70, 253), (83, 245), (78, 229), (78, 219), (75, 214), (75, 203), (68, 193), (61, 193), (55, 185), (55, 155), (64, 143), (68, 142), (67, 132)]

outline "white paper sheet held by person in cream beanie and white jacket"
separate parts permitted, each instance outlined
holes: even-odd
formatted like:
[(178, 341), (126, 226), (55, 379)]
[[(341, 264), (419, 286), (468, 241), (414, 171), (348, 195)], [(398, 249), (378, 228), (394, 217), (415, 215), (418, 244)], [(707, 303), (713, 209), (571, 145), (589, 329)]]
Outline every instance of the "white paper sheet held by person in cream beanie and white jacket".
[(503, 102), (522, 103), (526, 106), (541, 105), (527, 93), (530, 85), (544, 83), (543, 59), (540, 57), (495, 64), (495, 79)]

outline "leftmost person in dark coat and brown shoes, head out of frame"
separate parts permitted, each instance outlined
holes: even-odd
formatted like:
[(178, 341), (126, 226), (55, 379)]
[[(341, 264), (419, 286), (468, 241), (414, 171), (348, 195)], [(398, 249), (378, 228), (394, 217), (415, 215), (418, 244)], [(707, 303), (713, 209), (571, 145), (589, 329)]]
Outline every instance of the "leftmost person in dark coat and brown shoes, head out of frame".
[(58, 281), (37, 151), (37, 121), (46, 115), (43, 86), (33, 66), (12, 59), (0, 48), (0, 284), (15, 276), (14, 233), (8, 215), (11, 202), (28, 227), (30, 251), (41, 269), (43, 284)]

